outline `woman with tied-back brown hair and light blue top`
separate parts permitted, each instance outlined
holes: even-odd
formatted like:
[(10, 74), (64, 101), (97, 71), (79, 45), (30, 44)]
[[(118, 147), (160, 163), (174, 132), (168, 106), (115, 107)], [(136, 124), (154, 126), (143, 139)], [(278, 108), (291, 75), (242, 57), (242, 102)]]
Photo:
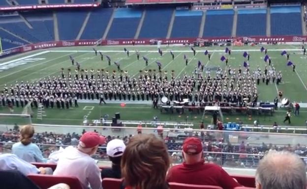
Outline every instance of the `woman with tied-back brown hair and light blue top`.
[(26, 162), (46, 162), (38, 146), (32, 143), (33, 135), (33, 126), (22, 126), (20, 130), (20, 142), (13, 145), (12, 153)]

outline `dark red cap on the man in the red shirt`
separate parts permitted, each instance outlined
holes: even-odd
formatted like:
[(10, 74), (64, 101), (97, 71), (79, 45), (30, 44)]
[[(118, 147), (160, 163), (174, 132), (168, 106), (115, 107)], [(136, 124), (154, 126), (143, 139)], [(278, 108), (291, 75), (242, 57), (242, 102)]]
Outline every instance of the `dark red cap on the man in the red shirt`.
[(203, 144), (199, 138), (188, 137), (183, 144), (184, 153), (188, 155), (196, 155), (203, 151)]

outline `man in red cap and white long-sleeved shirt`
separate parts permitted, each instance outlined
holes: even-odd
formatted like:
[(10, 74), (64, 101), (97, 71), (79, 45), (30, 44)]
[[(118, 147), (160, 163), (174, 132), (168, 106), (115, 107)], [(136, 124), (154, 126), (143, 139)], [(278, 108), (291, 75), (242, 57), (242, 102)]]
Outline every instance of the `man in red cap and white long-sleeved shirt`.
[(83, 189), (101, 189), (100, 170), (94, 159), (98, 146), (105, 143), (105, 138), (95, 132), (83, 134), (78, 147), (68, 146), (59, 157), (54, 175), (74, 176), (82, 184)]

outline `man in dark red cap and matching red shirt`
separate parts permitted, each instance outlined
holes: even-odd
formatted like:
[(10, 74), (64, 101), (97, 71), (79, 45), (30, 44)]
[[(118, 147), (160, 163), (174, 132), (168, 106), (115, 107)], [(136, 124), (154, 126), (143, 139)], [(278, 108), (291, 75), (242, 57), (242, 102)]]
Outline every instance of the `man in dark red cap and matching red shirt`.
[(202, 141), (196, 137), (188, 137), (184, 140), (183, 158), (182, 164), (173, 166), (168, 171), (168, 182), (212, 185), (223, 189), (234, 189), (241, 186), (220, 166), (205, 163)]

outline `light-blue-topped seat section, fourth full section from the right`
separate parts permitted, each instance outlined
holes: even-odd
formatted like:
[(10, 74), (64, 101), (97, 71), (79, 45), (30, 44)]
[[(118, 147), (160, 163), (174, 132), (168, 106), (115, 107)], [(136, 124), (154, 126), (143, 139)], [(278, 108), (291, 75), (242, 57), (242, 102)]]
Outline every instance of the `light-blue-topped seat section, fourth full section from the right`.
[(198, 37), (202, 11), (177, 10), (171, 37)]

